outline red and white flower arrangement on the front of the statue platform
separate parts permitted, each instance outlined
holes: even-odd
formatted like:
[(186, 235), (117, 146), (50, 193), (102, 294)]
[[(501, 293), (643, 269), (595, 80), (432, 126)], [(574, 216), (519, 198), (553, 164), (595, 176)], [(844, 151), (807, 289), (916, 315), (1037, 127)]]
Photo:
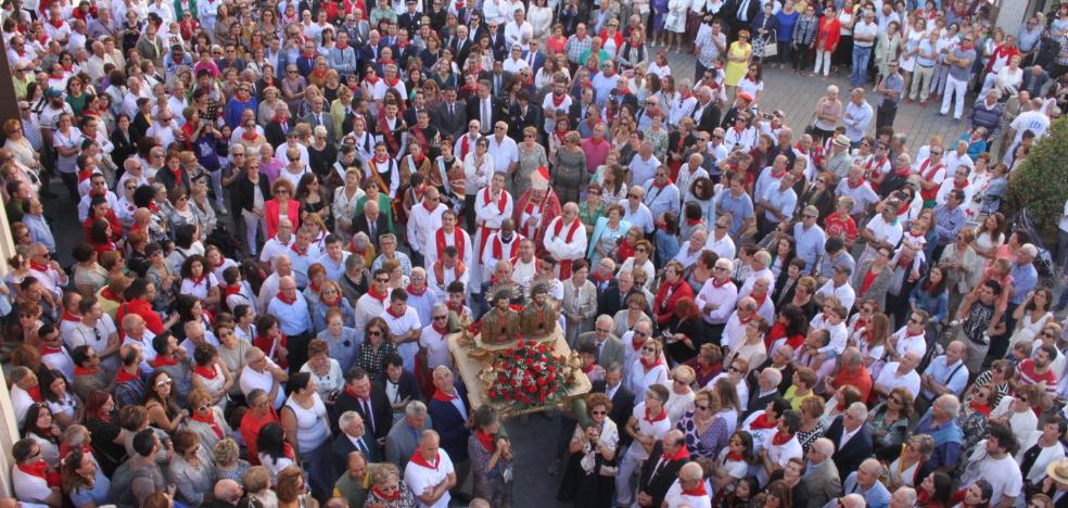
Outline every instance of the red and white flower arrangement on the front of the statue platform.
[(560, 402), (574, 384), (574, 369), (567, 359), (534, 341), (520, 340), (491, 367), (496, 376), (488, 381), (488, 399), (510, 404), (514, 410)]

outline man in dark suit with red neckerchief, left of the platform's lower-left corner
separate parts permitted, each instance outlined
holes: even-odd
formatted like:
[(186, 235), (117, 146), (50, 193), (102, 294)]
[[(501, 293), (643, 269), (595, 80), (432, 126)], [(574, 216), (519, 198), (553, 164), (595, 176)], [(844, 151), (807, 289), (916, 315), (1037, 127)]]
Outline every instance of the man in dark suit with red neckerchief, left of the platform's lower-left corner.
[(453, 459), (453, 467), (456, 470), (453, 496), (456, 497), (471, 470), (467, 444), (471, 436), (469, 423), (472, 421), (473, 409), (467, 401), (463, 384), (457, 384), (453, 371), (444, 365), (434, 369), (434, 396), (427, 404), (427, 414), (430, 416), (434, 431), (441, 437), (441, 447)]

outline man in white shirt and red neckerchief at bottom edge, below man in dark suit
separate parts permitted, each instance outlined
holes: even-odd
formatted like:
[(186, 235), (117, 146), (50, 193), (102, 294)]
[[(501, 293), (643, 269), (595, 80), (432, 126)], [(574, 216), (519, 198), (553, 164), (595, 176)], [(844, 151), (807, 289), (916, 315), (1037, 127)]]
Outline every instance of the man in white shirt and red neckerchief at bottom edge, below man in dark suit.
[(424, 430), (419, 435), (419, 447), (404, 468), (404, 483), (412, 494), (419, 493), (415, 497), (420, 508), (448, 507), (448, 490), (456, 485), (456, 470), (441, 448), (437, 432)]

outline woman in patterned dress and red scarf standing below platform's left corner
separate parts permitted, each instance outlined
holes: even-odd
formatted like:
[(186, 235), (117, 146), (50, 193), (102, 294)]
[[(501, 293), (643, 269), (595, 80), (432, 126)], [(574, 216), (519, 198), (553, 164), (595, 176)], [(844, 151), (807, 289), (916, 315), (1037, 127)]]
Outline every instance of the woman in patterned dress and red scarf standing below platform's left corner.
[(511, 442), (500, 434), (500, 419), (487, 405), (473, 415), (474, 431), (468, 439), (471, 472), (474, 478), (474, 496), (486, 499), (494, 507), (511, 506), (511, 469), (516, 456)]

